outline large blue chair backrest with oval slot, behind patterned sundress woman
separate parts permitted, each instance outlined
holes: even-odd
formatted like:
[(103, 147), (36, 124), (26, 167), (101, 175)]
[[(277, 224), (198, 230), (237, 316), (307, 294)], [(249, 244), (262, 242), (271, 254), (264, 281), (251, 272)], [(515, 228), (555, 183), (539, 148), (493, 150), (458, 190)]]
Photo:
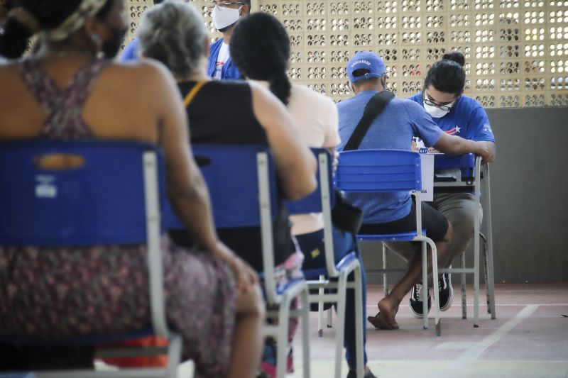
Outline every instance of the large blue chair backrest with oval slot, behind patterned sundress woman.
[[(157, 156), (164, 209), (163, 154), (155, 145), (108, 140), (1, 142), (0, 245), (145, 243), (146, 151)], [(83, 165), (39, 167), (39, 159), (50, 154), (76, 155)]]

